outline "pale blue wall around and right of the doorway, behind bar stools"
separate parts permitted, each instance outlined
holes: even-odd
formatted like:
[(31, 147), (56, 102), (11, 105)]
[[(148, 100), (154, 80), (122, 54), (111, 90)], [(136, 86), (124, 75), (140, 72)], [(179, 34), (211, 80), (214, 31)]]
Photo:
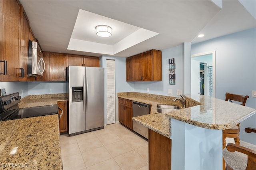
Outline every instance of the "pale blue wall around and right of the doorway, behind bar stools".
[[(246, 106), (256, 109), (256, 28), (193, 44), (191, 54), (216, 51), (216, 98), (225, 99), (225, 93), (249, 95)], [(256, 115), (241, 123), (240, 139), (256, 144), (255, 134), (244, 128), (256, 128)]]

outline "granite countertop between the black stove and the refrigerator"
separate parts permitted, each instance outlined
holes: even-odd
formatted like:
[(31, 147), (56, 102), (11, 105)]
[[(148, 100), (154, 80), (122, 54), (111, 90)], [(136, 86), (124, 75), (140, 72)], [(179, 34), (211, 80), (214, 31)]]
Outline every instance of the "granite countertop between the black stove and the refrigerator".
[(66, 93), (52, 95), (30, 95), (21, 99), (19, 108), (57, 105), (58, 101), (67, 101)]

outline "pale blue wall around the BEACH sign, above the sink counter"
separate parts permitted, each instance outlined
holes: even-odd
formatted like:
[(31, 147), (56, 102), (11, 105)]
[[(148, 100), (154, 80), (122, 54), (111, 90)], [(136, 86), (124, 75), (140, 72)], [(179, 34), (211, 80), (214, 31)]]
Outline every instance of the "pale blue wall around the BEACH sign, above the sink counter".
[[(175, 85), (169, 85), (169, 59), (175, 62)], [(157, 95), (168, 95), (168, 89), (172, 89), (172, 95), (177, 96), (177, 90), (183, 89), (183, 58), (184, 44), (162, 50), (162, 81), (135, 81), (134, 91)], [(147, 92), (149, 88), (149, 92)]]

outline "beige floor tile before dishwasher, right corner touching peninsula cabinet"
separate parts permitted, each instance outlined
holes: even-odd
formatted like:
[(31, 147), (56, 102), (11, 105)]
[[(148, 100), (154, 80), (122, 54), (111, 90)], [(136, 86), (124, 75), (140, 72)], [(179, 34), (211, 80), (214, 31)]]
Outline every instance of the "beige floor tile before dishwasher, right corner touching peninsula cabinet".
[(126, 142), (129, 146), (131, 146), (134, 149), (140, 148), (142, 146), (148, 145), (148, 141), (141, 138), (138, 135), (131, 135), (129, 137), (122, 138), (124, 142)]

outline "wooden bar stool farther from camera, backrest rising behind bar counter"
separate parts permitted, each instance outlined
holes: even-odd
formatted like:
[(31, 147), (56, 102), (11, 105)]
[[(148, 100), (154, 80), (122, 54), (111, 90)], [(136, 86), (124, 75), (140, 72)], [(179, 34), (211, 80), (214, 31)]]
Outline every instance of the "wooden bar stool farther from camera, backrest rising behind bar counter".
[[(236, 95), (232, 93), (226, 93), (226, 99), (225, 101), (238, 101), (242, 102), (241, 105), (245, 105), (246, 100), (249, 98), (249, 96), (243, 96), (243, 95)], [(222, 130), (222, 149), (226, 147), (226, 138), (234, 138), (234, 141), (236, 144), (240, 144), (240, 138), (239, 138), (239, 133), (240, 133), (240, 123), (237, 124), (234, 127), (231, 127), (226, 130)], [(225, 161), (223, 159), (223, 170), (225, 169)]]

